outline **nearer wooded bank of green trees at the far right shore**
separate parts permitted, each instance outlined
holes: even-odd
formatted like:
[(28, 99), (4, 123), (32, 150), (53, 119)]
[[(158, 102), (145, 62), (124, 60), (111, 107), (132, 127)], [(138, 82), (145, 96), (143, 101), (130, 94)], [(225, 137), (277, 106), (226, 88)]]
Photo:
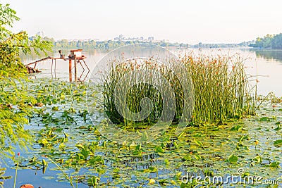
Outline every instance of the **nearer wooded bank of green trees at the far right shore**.
[(250, 47), (261, 49), (282, 49), (282, 33), (278, 35), (266, 35), (263, 38), (257, 37), (255, 44)]

